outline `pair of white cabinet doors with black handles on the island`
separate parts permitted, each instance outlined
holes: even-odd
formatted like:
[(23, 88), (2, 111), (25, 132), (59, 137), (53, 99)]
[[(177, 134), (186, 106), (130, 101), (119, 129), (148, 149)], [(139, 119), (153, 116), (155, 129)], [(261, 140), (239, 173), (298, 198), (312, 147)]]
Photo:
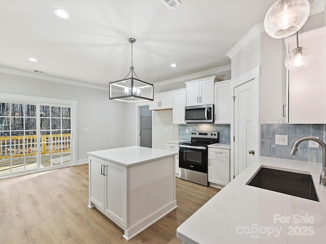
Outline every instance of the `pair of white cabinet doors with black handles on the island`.
[(127, 167), (89, 158), (90, 200), (116, 223), (127, 227)]

